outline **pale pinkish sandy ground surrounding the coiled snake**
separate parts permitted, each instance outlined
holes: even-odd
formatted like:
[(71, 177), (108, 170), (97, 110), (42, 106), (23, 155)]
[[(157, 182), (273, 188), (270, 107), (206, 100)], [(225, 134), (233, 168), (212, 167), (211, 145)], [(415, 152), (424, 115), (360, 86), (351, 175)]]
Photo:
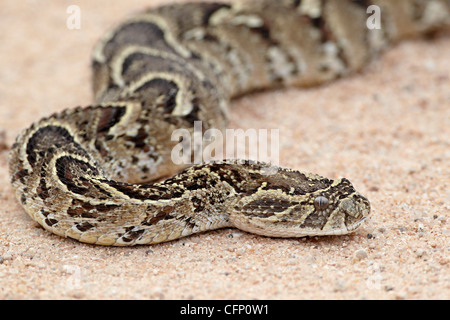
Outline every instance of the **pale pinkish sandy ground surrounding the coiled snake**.
[[(163, 1), (15, 1), (0, 8), (0, 129), (10, 145), (51, 112), (87, 105), (90, 52)], [(66, 7), (82, 29), (66, 28)], [(407, 42), (362, 75), (236, 101), (233, 128), (279, 128), (281, 164), (345, 176), (372, 203), (354, 235), (270, 239), (228, 229), (107, 248), (51, 235), (14, 199), (0, 154), (0, 299), (449, 299), (450, 39)]]

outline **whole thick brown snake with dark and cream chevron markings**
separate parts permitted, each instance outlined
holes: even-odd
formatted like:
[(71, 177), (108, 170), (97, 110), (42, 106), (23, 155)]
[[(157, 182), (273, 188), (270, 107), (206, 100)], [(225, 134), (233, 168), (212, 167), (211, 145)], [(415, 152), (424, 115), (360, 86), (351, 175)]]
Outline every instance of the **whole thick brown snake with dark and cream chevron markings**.
[[(370, 28), (376, 9), (381, 27)], [(448, 28), (449, 17), (448, 0), (197, 2), (136, 13), (94, 47), (95, 102), (16, 138), (15, 195), (44, 229), (98, 245), (229, 227), (283, 238), (354, 232), (371, 210), (348, 179), (252, 159), (180, 164), (171, 134), (193, 133), (196, 121), (223, 131), (233, 98), (356, 73), (401, 39)]]

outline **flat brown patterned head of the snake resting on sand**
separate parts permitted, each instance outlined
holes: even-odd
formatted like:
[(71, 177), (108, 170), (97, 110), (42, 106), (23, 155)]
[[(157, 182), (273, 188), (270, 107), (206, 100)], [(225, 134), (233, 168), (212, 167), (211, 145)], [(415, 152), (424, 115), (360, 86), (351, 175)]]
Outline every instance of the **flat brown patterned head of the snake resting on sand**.
[(370, 203), (349, 180), (280, 171), (235, 202), (231, 223), (272, 237), (342, 235), (370, 214)]

